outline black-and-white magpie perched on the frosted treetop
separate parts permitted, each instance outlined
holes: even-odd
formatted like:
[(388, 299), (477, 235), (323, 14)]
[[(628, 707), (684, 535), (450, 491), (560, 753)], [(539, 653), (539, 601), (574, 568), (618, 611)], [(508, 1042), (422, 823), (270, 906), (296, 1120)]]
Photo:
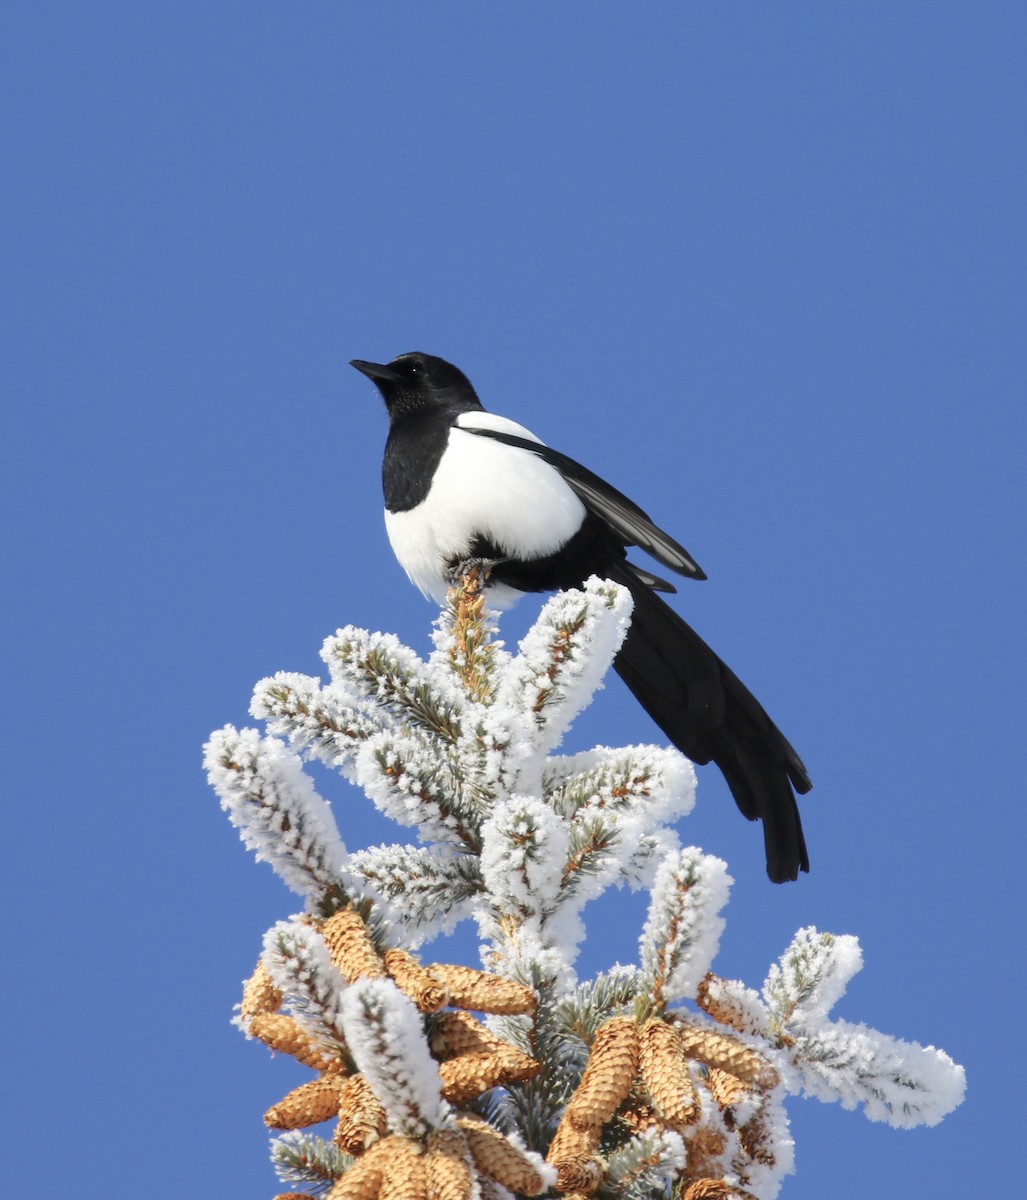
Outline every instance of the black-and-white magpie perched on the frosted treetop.
[(561, 592), (590, 576), (633, 600), (613, 666), (665, 736), (698, 764), (715, 763), (741, 814), (763, 823), (767, 874), (798, 878), (810, 862), (795, 794), (812, 784), (762, 704), (661, 598), (673, 583), (627, 559), (629, 547), (691, 580), (705, 572), (615, 487), (487, 412), (451, 362), (412, 352), (352, 359), (385, 402), (385, 526), (410, 581), (442, 602), (469, 563), (486, 566), (488, 600)]

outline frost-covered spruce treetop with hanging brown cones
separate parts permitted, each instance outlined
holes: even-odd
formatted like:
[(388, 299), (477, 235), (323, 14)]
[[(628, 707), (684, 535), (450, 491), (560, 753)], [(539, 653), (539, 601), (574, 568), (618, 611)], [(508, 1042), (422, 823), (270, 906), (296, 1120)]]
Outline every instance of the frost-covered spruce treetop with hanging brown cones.
[[(280, 1200), (771, 1200), (794, 1169), (789, 1096), (899, 1128), (961, 1102), (943, 1051), (831, 1019), (854, 937), (799, 930), (759, 991), (713, 972), (732, 880), (679, 841), (695, 774), (677, 750), (557, 752), (630, 606), (589, 580), (514, 654), (473, 572), (427, 659), (341, 629), (328, 682), (264, 679), (265, 732), (211, 736), (222, 808), (304, 900), (235, 1018), (312, 1073), (264, 1115)], [(314, 761), (416, 842), (348, 850)], [(649, 894), (638, 961), (581, 979), (582, 910), (612, 886)], [(464, 920), (481, 968), (431, 961)]]

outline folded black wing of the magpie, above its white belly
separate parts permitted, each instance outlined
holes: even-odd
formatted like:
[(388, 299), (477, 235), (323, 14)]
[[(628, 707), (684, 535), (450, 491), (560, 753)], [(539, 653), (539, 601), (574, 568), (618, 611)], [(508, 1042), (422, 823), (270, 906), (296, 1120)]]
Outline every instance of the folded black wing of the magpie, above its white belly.
[[(503, 442), (509, 446), (516, 446), (518, 450), (528, 450), (537, 455), (545, 462), (549, 463), (551, 467), (555, 467), (577, 493), (585, 508), (590, 509), (614, 529), (624, 539), (625, 545), (638, 546), (647, 554), (651, 554), (656, 562), (662, 563), (663, 566), (669, 566), (672, 571), (686, 575), (691, 580), (704, 580), (707, 577), (705, 571), (703, 571), (684, 546), (655, 526), (650, 517), (633, 500), (629, 500), (615, 487), (611, 487), (599, 475), (590, 472), (588, 467), (582, 467), (579, 462), (575, 462), (573, 458), (560, 454), (559, 450), (553, 450), (539, 442), (533, 442), (530, 438), (518, 437), (516, 433), (503, 433), (499, 430), (484, 430), (467, 425), (461, 425), (460, 428), (464, 433), (474, 433), (482, 438), (494, 438), (497, 442)], [(656, 581), (655, 576), (653, 578), (655, 583), (663, 583), (662, 580)], [(650, 583), (650, 587), (655, 586), (655, 583)], [(666, 584), (660, 590), (673, 590), (673, 588)]]

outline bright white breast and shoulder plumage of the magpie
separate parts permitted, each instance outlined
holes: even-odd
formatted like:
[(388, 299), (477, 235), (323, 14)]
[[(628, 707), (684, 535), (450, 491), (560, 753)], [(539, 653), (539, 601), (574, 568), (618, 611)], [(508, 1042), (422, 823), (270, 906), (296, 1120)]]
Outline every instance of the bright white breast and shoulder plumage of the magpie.
[[(539, 442), (504, 416), (464, 413), (450, 430), (428, 496), (407, 512), (385, 512), (400, 565), (439, 602), (451, 586), (449, 564), (466, 558), (476, 538), (487, 538), (511, 558), (543, 558), (577, 532), (585, 515), (555, 467), (529, 450), (466, 432), (475, 427)], [(518, 595), (505, 587), (490, 590), (497, 607)]]

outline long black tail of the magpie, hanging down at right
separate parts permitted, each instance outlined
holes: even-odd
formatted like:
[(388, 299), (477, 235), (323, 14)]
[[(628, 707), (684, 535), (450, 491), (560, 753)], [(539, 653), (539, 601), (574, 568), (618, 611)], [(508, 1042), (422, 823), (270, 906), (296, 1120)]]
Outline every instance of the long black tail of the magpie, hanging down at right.
[(731, 667), (630, 564), (614, 577), (635, 598), (617, 673), (671, 742), (693, 762), (715, 762), (744, 816), (763, 822), (770, 878), (783, 883), (809, 871), (792, 791), (812, 786), (801, 758)]

